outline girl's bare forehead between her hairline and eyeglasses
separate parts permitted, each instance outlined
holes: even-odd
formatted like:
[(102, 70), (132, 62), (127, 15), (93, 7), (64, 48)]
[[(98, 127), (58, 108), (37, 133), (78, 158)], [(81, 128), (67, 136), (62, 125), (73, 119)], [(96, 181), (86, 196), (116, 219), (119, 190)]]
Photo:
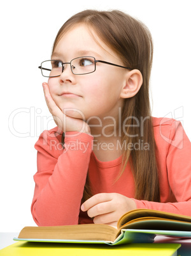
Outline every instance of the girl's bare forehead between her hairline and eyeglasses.
[(94, 57), (96, 55), (103, 58), (107, 55), (117, 57), (117, 54), (99, 38), (94, 29), (87, 25), (78, 24), (62, 34), (52, 55), (73, 55), (71, 56), (73, 58), (90, 53)]

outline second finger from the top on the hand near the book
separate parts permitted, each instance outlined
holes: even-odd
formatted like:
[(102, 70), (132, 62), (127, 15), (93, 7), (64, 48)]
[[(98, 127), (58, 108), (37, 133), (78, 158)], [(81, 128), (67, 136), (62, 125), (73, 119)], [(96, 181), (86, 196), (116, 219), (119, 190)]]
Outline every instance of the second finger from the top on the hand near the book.
[(93, 218), (99, 215), (104, 215), (106, 213), (111, 213), (113, 211), (115, 211), (115, 205), (111, 203), (111, 201), (108, 201), (92, 206), (92, 208), (87, 211), (87, 214), (90, 218)]

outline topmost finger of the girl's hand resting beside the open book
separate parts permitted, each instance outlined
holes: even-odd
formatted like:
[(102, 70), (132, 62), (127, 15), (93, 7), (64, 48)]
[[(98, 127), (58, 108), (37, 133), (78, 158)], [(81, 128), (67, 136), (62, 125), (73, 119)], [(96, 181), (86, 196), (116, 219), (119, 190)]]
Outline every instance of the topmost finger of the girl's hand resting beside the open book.
[(90, 197), (85, 203), (81, 204), (81, 211), (87, 211), (96, 204), (112, 200), (111, 193), (100, 193)]

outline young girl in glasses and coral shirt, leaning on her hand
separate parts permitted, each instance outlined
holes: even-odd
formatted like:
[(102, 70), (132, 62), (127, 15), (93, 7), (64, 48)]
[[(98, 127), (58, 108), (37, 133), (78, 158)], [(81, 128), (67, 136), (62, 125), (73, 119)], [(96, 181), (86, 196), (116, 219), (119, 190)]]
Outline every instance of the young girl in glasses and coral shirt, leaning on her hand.
[(120, 11), (86, 10), (39, 67), (57, 127), (35, 147), (38, 225), (110, 224), (129, 210), (191, 215), (191, 145), (181, 123), (150, 113), (153, 45)]

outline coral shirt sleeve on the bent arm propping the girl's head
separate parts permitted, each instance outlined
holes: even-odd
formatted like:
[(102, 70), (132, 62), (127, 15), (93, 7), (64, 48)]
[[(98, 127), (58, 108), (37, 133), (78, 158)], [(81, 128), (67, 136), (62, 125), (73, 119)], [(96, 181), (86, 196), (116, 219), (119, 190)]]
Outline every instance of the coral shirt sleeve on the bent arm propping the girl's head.
[(37, 225), (78, 224), (92, 141), (88, 134), (66, 132), (63, 148), (55, 132), (44, 131), (39, 137), (31, 205)]

